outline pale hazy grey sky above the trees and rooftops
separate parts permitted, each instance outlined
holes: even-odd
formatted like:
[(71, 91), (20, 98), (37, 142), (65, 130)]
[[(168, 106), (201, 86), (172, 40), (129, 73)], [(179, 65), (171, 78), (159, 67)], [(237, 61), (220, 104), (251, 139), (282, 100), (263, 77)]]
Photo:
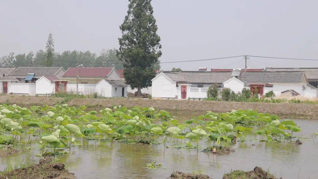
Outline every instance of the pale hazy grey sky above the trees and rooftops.
[[(318, 59), (318, 1), (153, 0), (162, 62), (238, 55)], [(100, 53), (118, 48), (128, 0), (0, 0), (0, 56), (45, 50), (49, 33), (55, 52)], [(243, 57), (162, 64), (244, 68)], [(250, 68), (318, 67), (318, 61), (250, 57)]]

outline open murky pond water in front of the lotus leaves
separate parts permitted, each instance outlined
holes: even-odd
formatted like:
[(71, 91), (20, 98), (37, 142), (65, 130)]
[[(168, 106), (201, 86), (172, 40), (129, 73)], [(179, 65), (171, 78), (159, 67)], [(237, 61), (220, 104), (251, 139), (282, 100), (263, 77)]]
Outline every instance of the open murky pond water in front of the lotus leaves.
[[(189, 115), (175, 114), (179, 119), (189, 119)], [(292, 143), (260, 142), (254, 134), (248, 134), (244, 142), (226, 142), (235, 152), (228, 155), (213, 155), (201, 150), (185, 150), (165, 148), (163, 144), (128, 144), (121, 142), (87, 141), (78, 139), (80, 146), (72, 148), (70, 153), (59, 157), (70, 172), (78, 178), (167, 178), (173, 171), (198, 172), (214, 179), (220, 179), (226, 172), (232, 170), (252, 170), (255, 166), (269, 169), (276, 177), (286, 178), (318, 178), (318, 137), (312, 138), (313, 132), (318, 132), (318, 120), (294, 120), (302, 131), (302, 145)], [(306, 139), (304, 139), (306, 138)], [(160, 140), (160, 139), (156, 139)], [(168, 139), (169, 141), (169, 139)], [(171, 141), (170, 141), (171, 142)], [(15, 165), (27, 156), (38, 161), (40, 151), (36, 148), (24, 149), (18, 154), (0, 158), (0, 169), (8, 164)], [(184, 141), (180, 141), (184, 144)], [(202, 148), (211, 146), (213, 141), (202, 140)], [(255, 144), (255, 145), (252, 145)], [(169, 143), (167, 144), (168, 146)], [(68, 149), (66, 149), (68, 150)], [(151, 163), (162, 163), (166, 169), (146, 169)]]

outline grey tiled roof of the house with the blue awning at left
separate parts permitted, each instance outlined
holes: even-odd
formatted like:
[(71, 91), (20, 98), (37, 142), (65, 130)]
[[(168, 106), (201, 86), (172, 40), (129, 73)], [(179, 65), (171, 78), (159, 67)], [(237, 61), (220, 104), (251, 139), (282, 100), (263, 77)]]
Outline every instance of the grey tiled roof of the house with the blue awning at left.
[(26, 77), (28, 73), (35, 73), (36, 77), (54, 76), (61, 67), (18, 67), (9, 76)]

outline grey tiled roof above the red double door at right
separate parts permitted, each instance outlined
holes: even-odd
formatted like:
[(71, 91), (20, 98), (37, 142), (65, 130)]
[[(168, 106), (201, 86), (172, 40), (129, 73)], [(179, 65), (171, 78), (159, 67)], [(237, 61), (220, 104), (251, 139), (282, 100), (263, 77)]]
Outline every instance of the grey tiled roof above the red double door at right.
[(304, 72), (243, 72), (245, 83), (301, 83)]

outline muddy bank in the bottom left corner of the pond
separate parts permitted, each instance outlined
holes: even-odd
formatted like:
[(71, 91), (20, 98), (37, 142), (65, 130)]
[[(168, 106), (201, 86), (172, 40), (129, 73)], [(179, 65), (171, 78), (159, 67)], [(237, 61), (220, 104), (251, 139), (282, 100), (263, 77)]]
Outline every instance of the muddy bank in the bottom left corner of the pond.
[(51, 158), (41, 159), (39, 164), (15, 169), (8, 173), (1, 173), (0, 178), (20, 178), (20, 179), (76, 179), (73, 173), (69, 173), (63, 163), (53, 163)]

